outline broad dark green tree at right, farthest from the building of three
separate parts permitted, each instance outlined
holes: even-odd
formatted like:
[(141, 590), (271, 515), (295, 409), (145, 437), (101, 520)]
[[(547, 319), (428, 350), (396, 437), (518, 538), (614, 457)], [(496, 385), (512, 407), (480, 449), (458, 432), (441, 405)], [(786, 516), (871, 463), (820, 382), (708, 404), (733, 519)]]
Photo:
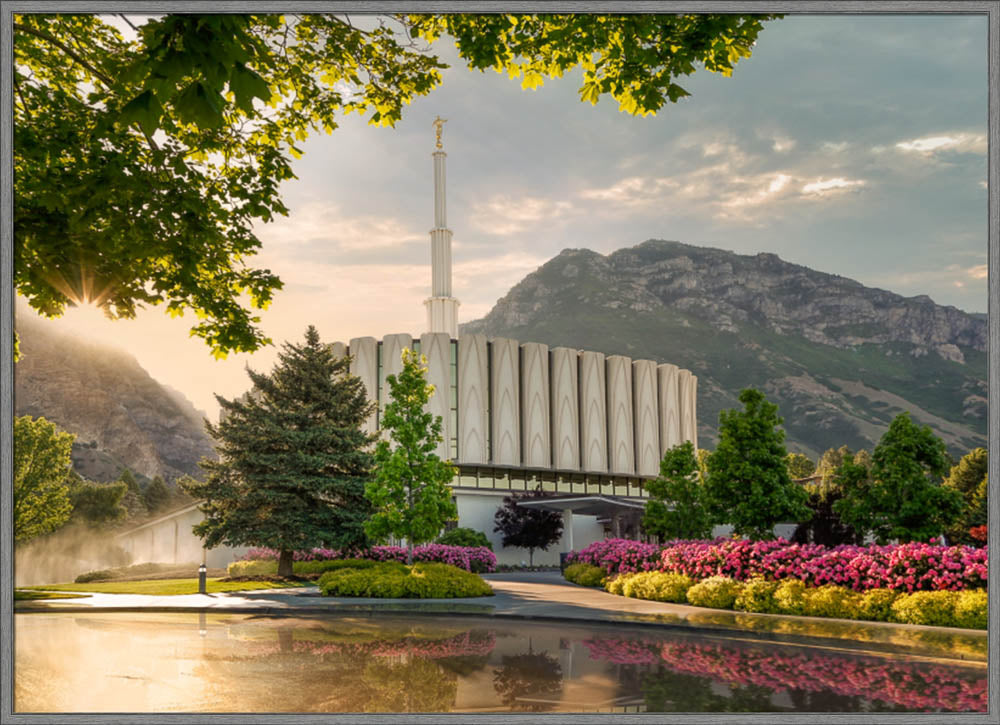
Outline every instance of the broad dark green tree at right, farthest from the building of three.
[(872, 453), (870, 476), (850, 456), (837, 469), (844, 497), (834, 511), (859, 535), (870, 533), (880, 544), (939, 536), (963, 506), (961, 493), (941, 485), (949, 465), (944, 441), (901, 413)]

